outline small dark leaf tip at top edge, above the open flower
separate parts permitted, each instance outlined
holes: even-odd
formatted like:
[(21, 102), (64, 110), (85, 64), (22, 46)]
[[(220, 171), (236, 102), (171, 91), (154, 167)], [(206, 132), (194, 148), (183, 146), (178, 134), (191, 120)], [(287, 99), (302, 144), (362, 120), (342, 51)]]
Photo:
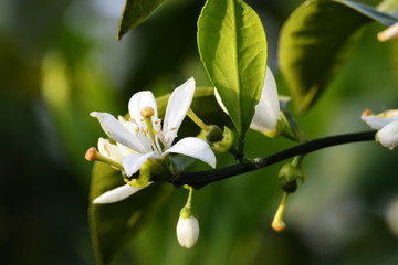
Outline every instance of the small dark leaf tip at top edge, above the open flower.
[(117, 31), (117, 40), (121, 40), (129, 30), (142, 23), (165, 0), (126, 0)]

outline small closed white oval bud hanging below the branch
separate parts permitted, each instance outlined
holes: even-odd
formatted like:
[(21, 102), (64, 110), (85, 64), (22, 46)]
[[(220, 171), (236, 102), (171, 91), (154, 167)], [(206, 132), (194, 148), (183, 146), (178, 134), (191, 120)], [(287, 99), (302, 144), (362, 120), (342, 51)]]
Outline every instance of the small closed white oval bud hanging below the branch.
[(178, 243), (186, 248), (191, 248), (199, 237), (199, 222), (193, 215), (187, 219), (179, 218), (177, 223)]

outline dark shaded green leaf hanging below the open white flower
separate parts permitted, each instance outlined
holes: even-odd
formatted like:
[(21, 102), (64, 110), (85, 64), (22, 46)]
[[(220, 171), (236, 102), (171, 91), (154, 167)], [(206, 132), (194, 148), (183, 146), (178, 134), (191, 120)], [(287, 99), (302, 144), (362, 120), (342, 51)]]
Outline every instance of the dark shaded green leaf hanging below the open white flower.
[[(90, 200), (123, 184), (121, 171), (106, 163), (95, 162)], [(91, 203), (90, 229), (98, 264), (109, 264), (172, 190), (170, 184), (154, 183), (116, 203)]]

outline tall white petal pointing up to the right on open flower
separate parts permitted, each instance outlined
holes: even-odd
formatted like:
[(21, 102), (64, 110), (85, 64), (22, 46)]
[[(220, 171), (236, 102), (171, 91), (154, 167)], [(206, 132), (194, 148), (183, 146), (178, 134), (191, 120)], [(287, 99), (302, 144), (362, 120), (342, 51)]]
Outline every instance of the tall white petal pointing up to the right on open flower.
[(195, 94), (195, 80), (189, 78), (186, 83), (177, 87), (169, 97), (163, 125), (167, 147), (172, 145), (175, 135), (177, 134), (187, 112), (190, 107)]

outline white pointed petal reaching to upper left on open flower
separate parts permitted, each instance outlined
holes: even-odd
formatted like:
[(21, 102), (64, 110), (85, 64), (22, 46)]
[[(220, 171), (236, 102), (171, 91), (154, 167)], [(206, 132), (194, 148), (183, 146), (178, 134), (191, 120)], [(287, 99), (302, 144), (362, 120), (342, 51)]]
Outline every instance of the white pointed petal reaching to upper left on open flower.
[(93, 112), (90, 114), (92, 117), (98, 118), (101, 126), (103, 127), (106, 135), (112, 139), (122, 145), (125, 145), (133, 150), (138, 152), (144, 152), (143, 148), (137, 142), (136, 137), (129, 132), (114, 116), (107, 113), (96, 113)]

